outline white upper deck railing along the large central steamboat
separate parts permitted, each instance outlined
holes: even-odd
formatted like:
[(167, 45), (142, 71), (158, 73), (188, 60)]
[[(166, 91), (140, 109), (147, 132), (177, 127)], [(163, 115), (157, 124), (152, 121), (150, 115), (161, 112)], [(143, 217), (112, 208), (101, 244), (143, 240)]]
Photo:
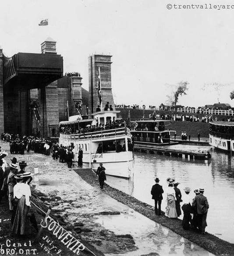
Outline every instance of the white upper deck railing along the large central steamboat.
[(121, 127), (110, 130), (100, 130), (96, 132), (85, 132), (77, 134), (61, 134), (60, 139), (76, 140), (76, 139), (100, 139), (106, 137), (119, 137), (123, 135), (131, 135), (129, 128)]

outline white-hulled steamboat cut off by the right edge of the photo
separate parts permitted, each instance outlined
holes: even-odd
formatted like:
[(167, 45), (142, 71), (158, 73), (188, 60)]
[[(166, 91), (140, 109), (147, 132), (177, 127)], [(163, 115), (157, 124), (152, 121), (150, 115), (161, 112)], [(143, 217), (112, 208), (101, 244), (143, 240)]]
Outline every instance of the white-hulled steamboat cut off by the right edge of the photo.
[(216, 149), (234, 151), (234, 122), (210, 122), (209, 144)]

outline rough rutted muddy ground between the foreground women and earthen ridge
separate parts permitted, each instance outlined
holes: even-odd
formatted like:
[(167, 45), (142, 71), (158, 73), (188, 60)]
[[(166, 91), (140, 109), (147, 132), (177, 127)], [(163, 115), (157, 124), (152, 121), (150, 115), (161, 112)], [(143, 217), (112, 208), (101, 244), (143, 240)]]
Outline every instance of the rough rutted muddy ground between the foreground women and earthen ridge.
[[(0, 145), (2, 150), (9, 153), (9, 143), (0, 142)], [(84, 182), (73, 170), (67, 168), (66, 164), (53, 161), (51, 156), (32, 152), (25, 155), (8, 154), (6, 161), (10, 163), (12, 157), (17, 157), (18, 161), (26, 161), (28, 164), (26, 171), (33, 172), (34, 167), (39, 166), (39, 174), (34, 176), (31, 183), (32, 201), (35, 201), (44, 212), (47, 212), (49, 206), (52, 207), (50, 216), (57, 219), (62, 227), (70, 231), (75, 238), (80, 239), (96, 255), (103, 256), (103, 253), (111, 252), (122, 255), (125, 252), (138, 249), (134, 239), (127, 233), (124, 233), (127, 236), (119, 237), (97, 222), (101, 216), (115, 216), (119, 215), (119, 212), (127, 212), (127, 206), (104, 193), (100, 193), (99, 189), (95, 189)], [(32, 208), (36, 211), (35, 216), (39, 224), (45, 215), (36, 208)], [(12, 241), (24, 241), (22, 238), (15, 240), (12, 237), (10, 216), (9, 206), (5, 200), (0, 204), (0, 219), (5, 220), (0, 221), (0, 244), (4, 243), (4, 246), (6, 246), (8, 238)], [(31, 241), (36, 236), (35, 231), (33, 232), (30, 237)], [(53, 244), (57, 242), (53, 233), (44, 229), (43, 236), (46, 235), (51, 238)], [(28, 238), (25, 239), (27, 241)], [(45, 245), (43, 241), (40, 242)], [(51, 252), (53, 255), (74, 255), (61, 242), (57, 242), (57, 244), (62, 252), (60, 254)], [(38, 250), (38, 255), (43, 255), (43, 253), (49, 255), (44, 249), (40, 249), (40, 246), (38, 246)]]

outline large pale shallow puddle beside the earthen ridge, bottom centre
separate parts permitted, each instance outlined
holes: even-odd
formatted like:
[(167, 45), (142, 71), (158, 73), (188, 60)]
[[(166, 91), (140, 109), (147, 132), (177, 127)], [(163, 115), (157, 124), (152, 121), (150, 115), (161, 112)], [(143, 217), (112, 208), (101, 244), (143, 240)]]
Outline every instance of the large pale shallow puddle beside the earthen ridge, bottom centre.
[(200, 246), (135, 211), (117, 216), (98, 216), (95, 221), (117, 235), (131, 234), (138, 247), (134, 252), (108, 253), (105, 256), (141, 256), (149, 253), (160, 256), (213, 256)]

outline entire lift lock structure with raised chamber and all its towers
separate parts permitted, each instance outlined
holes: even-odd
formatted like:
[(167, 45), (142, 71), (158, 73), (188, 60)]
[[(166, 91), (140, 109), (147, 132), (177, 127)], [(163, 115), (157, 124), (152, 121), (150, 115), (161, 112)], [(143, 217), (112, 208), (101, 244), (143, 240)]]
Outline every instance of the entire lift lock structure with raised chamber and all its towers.
[(0, 49), (0, 133), (59, 136), (59, 122), (72, 115), (96, 112), (99, 104), (99, 69), (103, 110), (113, 106), (111, 55), (89, 56), (89, 91), (78, 72), (63, 75), (63, 57), (48, 37), (41, 53), (4, 56)]

